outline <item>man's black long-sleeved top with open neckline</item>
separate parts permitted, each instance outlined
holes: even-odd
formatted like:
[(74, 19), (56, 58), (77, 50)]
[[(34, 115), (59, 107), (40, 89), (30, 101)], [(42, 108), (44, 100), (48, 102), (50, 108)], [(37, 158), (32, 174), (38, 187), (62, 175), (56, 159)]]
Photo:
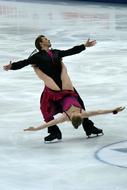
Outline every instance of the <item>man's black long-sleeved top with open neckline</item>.
[(35, 65), (42, 72), (51, 77), (55, 81), (55, 83), (62, 89), (62, 82), (61, 82), (62, 57), (78, 54), (83, 50), (85, 50), (85, 46), (83, 44), (79, 46), (74, 46), (73, 48), (68, 50), (52, 49), (53, 53), (52, 58), (45, 50), (41, 50), (36, 54), (32, 55), (31, 57), (29, 57), (28, 59), (21, 60), (18, 62), (13, 62), (11, 70), (21, 69), (27, 65)]

